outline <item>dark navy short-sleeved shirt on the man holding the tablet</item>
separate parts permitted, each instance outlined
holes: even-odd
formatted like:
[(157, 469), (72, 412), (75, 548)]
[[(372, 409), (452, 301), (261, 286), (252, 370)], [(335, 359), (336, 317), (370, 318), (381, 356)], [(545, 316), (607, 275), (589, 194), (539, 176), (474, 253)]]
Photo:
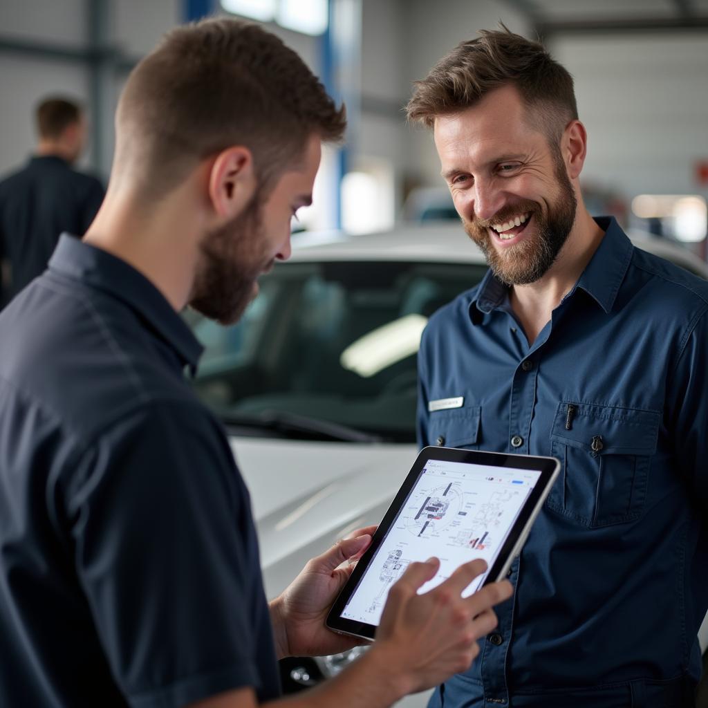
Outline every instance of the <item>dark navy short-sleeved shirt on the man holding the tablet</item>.
[(0, 314), (0, 706), (278, 695), (249, 496), (137, 270), (62, 236)]

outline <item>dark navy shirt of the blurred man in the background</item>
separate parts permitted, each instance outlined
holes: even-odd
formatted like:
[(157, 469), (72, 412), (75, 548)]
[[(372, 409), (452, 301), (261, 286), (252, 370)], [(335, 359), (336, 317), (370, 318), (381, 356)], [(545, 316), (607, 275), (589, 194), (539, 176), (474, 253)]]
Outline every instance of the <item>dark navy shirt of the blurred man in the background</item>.
[(0, 259), (11, 265), (7, 299), (47, 268), (59, 234), (84, 235), (102, 201), (98, 179), (54, 155), (33, 157), (0, 182)]

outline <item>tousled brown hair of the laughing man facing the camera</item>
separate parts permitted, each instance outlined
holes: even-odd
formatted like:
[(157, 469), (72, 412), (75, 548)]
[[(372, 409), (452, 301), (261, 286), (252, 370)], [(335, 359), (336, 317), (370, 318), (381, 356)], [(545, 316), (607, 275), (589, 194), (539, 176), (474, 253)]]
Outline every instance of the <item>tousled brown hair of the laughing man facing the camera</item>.
[(527, 106), (530, 123), (557, 142), (566, 125), (578, 118), (573, 77), (539, 42), (503, 30), (481, 30), (440, 59), (416, 81), (406, 108), (409, 120), (433, 127), (440, 115), (472, 107), (486, 93), (513, 85)]

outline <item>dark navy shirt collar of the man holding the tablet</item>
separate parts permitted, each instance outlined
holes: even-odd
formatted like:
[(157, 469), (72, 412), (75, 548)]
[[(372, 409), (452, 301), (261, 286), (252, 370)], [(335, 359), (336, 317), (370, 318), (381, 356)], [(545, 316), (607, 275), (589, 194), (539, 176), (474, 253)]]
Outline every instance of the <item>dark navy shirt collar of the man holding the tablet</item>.
[(201, 344), (164, 295), (132, 265), (74, 236), (62, 234), (49, 267), (125, 302), (166, 341), (194, 375), (203, 350)]

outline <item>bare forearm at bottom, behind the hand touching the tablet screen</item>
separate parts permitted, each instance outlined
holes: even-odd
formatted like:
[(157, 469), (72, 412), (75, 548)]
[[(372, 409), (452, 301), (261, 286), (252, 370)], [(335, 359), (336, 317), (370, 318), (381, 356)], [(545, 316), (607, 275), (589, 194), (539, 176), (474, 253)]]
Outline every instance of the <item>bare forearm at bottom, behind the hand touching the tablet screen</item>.
[(375, 645), (331, 680), (263, 708), (387, 708), (412, 689), (401, 671), (392, 670), (386, 652)]

